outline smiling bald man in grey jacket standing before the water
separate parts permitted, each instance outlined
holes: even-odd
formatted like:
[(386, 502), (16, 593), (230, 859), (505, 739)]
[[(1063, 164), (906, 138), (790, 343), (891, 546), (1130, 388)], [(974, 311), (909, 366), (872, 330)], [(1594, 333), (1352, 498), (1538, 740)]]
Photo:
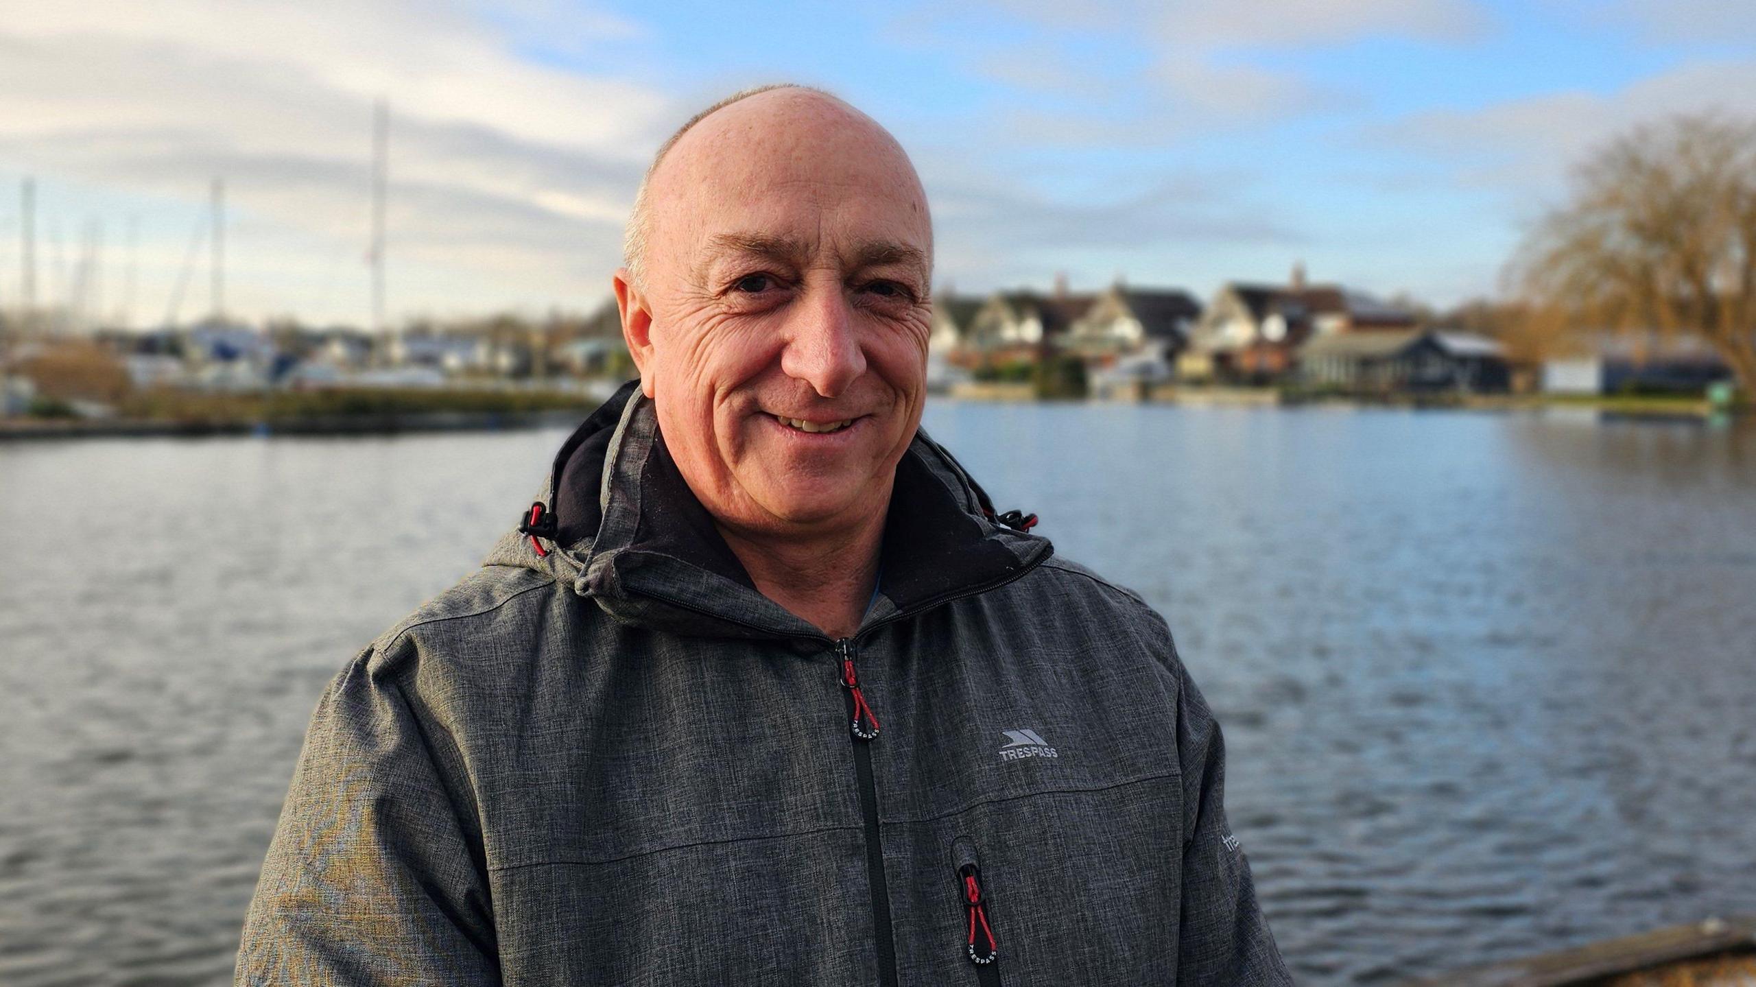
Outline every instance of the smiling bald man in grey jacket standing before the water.
[(1164, 620), (918, 429), (931, 270), (827, 93), (666, 142), (639, 381), (330, 683), (239, 983), (1291, 983)]

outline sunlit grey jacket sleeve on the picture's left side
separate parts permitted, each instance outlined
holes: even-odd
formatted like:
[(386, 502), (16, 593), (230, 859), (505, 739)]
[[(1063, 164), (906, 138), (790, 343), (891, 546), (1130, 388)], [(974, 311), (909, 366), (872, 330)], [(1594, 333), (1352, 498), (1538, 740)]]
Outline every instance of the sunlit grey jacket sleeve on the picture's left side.
[(479, 838), (371, 655), (311, 718), (244, 920), (239, 985), (500, 980)]

